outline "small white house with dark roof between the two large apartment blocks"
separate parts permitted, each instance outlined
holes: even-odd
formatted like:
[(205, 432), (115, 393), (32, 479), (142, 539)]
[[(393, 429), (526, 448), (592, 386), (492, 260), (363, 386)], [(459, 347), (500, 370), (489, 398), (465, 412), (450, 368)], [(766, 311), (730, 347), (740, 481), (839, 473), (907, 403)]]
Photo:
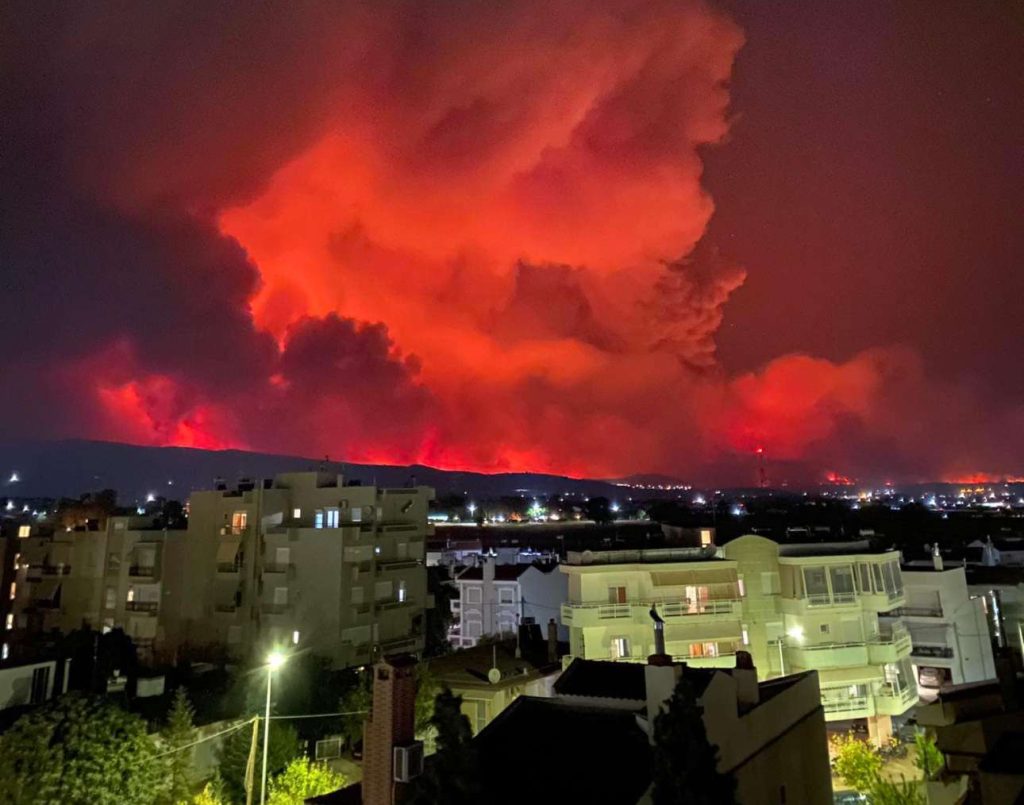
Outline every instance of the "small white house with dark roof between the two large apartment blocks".
[[(452, 642), (469, 648), (484, 635), (509, 637), (526, 619), (547, 624), (558, 616), (568, 583), (557, 564), (498, 564), (483, 557), (455, 579), (459, 597), (452, 600)], [(564, 638), (564, 627), (560, 630)]]

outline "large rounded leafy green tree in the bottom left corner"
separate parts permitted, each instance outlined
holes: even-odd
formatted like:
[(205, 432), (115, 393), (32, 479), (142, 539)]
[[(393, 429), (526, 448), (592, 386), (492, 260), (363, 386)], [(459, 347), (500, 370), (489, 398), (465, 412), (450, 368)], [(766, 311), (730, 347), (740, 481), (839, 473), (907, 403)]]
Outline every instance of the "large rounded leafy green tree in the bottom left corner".
[(22, 716), (0, 738), (0, 802), (150, 805), (161, 765), (140, 718), (73, 693)]

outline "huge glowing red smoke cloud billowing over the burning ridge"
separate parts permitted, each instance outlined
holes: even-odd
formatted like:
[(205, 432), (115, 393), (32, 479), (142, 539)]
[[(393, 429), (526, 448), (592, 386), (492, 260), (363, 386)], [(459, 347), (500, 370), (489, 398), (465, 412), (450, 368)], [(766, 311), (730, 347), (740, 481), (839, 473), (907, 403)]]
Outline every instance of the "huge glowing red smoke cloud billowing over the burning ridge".
[(700, 244), (700, 150), (742, 34), (702, 3), (17, 22), (7, 117), (36, 137), (10, 183), (50, 214), (23, 205), (6, 253), (62, 371), (10, 405), (86, 389), (42, 407), (49, 435), (739, 480), (756, 447), (815, 477), (872, 444), (907, 474), (1006, 458), (963, 394), (921, 421), (936, 388), (903, 349), (720, 365), (745, 271)]

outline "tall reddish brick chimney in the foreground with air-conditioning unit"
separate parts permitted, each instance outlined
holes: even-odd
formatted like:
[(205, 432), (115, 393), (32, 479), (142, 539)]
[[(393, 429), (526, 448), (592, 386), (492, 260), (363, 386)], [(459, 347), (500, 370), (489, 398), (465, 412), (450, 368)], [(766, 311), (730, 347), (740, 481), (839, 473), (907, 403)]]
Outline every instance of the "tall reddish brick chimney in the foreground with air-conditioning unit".
[(384, 658), (373, 669), (374, 704), (362, 725), (362, 802), (401, 802), (406, 783), (395, 781), (396, 747), (416, 742), (416, 658)]

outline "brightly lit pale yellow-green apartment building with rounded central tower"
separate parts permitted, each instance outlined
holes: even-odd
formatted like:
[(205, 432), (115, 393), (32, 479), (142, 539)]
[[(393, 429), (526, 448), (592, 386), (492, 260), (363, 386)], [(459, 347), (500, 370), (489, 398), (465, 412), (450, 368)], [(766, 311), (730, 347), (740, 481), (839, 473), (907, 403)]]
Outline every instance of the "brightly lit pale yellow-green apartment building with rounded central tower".
[(728, 667), (741, 649), (769, 677), (817, 671), (829, 721), (867, 719), (881, 736), (918, 702), (896, 551), (746, 536), (724, 550), (570, 552), (561, 569), (572, 656), (643, 661), (653, 610), (689, 666)]

